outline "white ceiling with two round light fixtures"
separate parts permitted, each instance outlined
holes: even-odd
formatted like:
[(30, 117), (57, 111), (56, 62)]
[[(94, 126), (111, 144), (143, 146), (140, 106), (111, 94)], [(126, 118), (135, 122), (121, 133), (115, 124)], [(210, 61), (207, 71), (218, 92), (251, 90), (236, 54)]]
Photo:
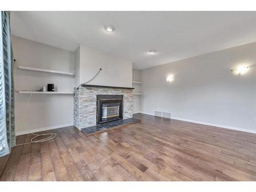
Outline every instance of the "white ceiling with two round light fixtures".
[(256, 41), (256, 12), (14, 11), (11, 31), (70, 51), (92, 47), (145, 69)]

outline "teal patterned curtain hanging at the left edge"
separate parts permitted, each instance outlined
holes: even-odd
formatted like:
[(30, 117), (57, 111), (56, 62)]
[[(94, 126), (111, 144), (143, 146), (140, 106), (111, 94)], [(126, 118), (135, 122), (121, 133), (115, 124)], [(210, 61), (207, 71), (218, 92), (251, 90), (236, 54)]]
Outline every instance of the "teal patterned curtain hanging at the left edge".
[(15, 145), (13, 53), (10, 11), (1, 11), (0, 29), (0, 157)]

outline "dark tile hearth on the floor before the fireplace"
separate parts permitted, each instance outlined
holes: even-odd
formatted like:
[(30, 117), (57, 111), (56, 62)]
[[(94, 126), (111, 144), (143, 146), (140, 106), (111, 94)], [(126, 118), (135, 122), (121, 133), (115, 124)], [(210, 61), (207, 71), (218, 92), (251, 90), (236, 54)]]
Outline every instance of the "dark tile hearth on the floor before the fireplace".
[(117, 126), (131, 124), (131, 123), (138, 123), (138, 122), (140, 122), (140, 120), (135, 118), (121, 119), (117, 121), (106, 122), (106, 123), (97, 124), (94, 126), (89, 126), (81, 129), (81, 131), (86, 134), (93, 134), (93, 133), (103, 132), (109, 129), (113, 129), (114, 127), (117, 127)]

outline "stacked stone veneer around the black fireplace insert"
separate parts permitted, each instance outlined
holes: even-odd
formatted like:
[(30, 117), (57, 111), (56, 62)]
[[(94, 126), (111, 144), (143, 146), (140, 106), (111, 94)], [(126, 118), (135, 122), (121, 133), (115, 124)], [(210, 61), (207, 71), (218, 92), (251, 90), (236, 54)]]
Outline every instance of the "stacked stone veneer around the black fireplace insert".
[(133, 117), (133, 91), (130, 89), (80, 87), (75, 89), (74, 125), (81, 130), (96, 125), (97, 95), (123, 95), (123, 119)]

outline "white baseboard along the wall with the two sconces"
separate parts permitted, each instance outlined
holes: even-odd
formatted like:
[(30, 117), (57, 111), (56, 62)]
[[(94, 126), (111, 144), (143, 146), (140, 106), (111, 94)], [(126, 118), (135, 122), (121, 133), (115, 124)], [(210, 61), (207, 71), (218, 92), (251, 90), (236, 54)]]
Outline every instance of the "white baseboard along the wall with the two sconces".
[[(139, 113), (143, 113), (146, 115), (153, 115), (152, 113), (145, 113), (145, 112), (139, 112)], [(236, 131), (241, 131), (241, 132), (247, 132), (247, 133), (254, 133), (256, 134), (256, 130), (247, 130), (247, 129), (243, 129), (240, 127), (233, 127), (233, 126), (227, 126), (227, 125), (221, 125), (221, 124), (215, 124), (215, 123), (208, 123), (208, 122), (202, 122), (202, 121), (195, 121), (195, 120), (190, 120), (190, 119), (183, 119), (183, 118), (179, 118), (179, 117), (171, 117), (171, 119), (176, 119), (176, 120), (180, 120), (180, 121), (187, 121), (187, 122), (191, 122), (191, 123), (198, 123), (198, 124), (204, 124), (204, 125), (209, 125), (209, 126), (217, 126), (217, 127), (221, 127), (224, 129), (229, 129), (229, 130), (236, 130)]]

